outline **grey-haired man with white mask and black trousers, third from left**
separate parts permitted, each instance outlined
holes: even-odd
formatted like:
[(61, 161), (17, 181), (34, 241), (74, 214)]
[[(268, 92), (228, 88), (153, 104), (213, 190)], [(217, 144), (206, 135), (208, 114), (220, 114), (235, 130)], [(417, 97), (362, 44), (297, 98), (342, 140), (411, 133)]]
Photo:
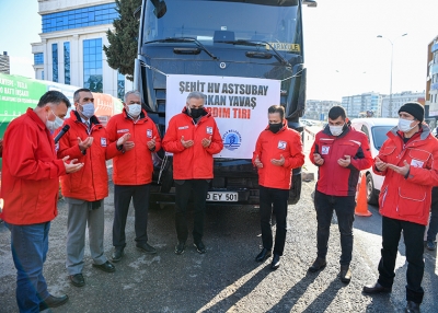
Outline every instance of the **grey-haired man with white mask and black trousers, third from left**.
[(161, 139), (157, 126), (141, 109), (138, 91), (125, 94), (124, 111), (113, 116), (106, 126), (110, 142), (130, 134), (125, 147), (132, 147), (129, 153), (113, 159), (114, 182), (114, 223), (113, 262), (119, 262), (126, 246), (125, 225), (130, 199), (136, 215), (136, 246), (138, 250), (154, 254), (155, 248), (148, 244), (149, 187), (152, 182), (152, 152), (161, 149)]

